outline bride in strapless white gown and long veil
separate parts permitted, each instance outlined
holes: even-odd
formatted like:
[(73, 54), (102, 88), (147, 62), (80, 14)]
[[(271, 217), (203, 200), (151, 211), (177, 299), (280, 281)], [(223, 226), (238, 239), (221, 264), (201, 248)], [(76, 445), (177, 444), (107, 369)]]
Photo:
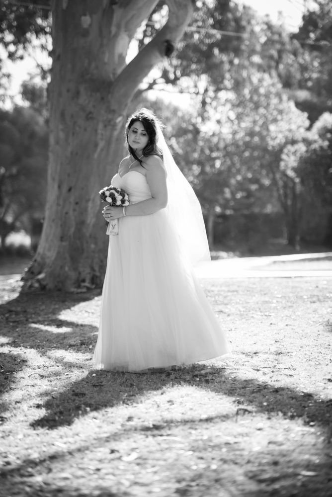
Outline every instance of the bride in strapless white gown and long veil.
[(209, 258), (199, 202), (150, 111), (129, 118), (126, 138), (111, 183), (130, 204), (103, 210), (119, 234), (109, 237), (94, 362), (142, 372), (223, 355), (226, 338), (193, 274)]

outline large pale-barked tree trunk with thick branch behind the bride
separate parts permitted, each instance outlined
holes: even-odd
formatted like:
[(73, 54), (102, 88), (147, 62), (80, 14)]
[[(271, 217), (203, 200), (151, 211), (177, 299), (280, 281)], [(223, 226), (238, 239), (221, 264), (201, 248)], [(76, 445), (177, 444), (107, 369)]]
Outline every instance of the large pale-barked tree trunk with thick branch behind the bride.
[(102, 283), (108, 237), (98, 191), (124, 152), (130, 100), (182, 36), (191, 0), (169, 0), (168, 21), (126, 66), (129, 43), (158, 0), (53, 0), (50, 157), (44, 228), (27, 286)]

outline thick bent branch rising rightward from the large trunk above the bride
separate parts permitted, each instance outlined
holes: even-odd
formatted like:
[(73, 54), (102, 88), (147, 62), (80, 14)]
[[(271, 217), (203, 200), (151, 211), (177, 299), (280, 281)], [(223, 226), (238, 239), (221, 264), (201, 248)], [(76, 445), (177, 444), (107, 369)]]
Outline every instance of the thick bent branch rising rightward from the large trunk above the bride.
[(192, 0), (167, 0), (165, 26), (123, 69), (112, 84), (110, 100), (131, 98), (151, 69), (169, 53), (183, 35), (193, 13)]

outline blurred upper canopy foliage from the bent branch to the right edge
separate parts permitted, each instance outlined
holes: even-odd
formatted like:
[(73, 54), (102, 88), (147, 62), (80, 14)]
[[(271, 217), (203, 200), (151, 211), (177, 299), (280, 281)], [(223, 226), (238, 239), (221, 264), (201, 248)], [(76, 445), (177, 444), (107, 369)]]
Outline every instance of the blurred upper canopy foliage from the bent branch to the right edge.
[[(201, 95), (204, 105), (205, 98), (213, 99), (215, 91), (241, 91), (241, 71), (254, 67), (277, 77), (313, 123), (321, 113), (332, 110), (332, 12), (330, 2), (317, 4), (319, 8), (304, 16), (299, 32), (291, 34), (282, 22), (261, 18), (246, 5), (227, 0), (197, 2), (178, 49), (160, 65), (159, 73), (154, 71), (145, 88), (175, 85), (181, 92)], [(139, 40), (140, 47), (156, 32), (158, 22), (156, 9)], [(235, 67), (239, 81), (230, 76)]]

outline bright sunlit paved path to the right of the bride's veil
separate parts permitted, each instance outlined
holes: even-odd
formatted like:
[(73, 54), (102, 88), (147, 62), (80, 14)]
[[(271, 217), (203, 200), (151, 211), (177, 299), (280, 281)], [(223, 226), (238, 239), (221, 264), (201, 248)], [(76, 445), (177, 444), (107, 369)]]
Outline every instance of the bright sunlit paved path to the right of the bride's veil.
[(332, 278), (332, 252), (235, 257), (201, 264), (198, 278)]

